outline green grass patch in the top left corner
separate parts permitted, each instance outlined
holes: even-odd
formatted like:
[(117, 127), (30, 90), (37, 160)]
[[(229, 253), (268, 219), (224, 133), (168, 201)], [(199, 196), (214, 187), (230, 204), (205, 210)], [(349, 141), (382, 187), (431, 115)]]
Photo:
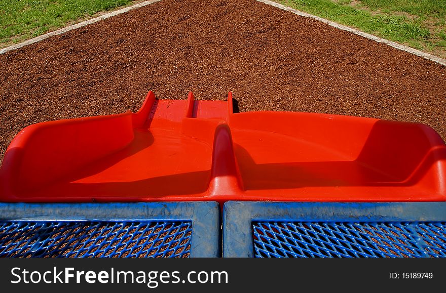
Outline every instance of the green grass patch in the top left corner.
[(130, 0), (0, 0), (0, 44), (18, 43)]

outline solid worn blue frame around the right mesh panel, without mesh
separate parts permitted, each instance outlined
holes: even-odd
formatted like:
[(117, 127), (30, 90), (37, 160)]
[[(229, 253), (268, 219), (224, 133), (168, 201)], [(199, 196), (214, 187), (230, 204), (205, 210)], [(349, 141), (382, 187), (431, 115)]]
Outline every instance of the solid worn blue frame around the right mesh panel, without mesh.
[(445, 222), (446, 202), (228, 201), (223, 215), (223, 257), (254, 257), (256, 222)]

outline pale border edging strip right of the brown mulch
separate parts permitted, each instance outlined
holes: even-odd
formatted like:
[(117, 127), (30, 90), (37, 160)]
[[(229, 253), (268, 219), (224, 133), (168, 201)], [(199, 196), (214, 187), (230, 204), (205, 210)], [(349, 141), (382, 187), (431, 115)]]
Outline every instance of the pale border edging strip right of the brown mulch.
[(362, 32), (362, 31), (353, 29), (351, 27), (348, 27), (348, 26), (345, 26), (345, 25), (342, 25), (342, 24), (339, 24), (339, 23), (336, 23), (336, 22), (333, 22), (333, 21), (330, 21), (330, 20), (327, 20), (327, 19), (315, 16), (315, 15), (312, 15), (312, 14), (308, 14), (308, 13), (305, 13), (305, 12), (302, 12), (302, 11), (299, 11), (299, 10), (295, 10), (293, 8), (284, 6), (284, 5), (276, 3), (276, 2), (272, 2), (272, 1), (269, 1), (269, 0), (256, 0), (256, 1), (265, 3), (265, 4), (268, 4), (268, 5), (277, 7), (277, 8), (280, 8), (282, 10), (286, 10), (286, 11), (292, 12), (294, 14), (297, 14), (297, 15), (300, 15), (300, 16), (303, 16), (303, 17), (309, 17), (309, 18), (318, 20), (318, 21), (326, 23), (326, 24), (328, 24), (330, 26), (333, 26), (333, 27), (336, 27), (336, 28), (339, 28), (339, 29), (342, 29), (342, 30), (353, 32), (354, 34), (357, 34), (357, 35), (360, 35), (360, 36), (363, 36), (363, 37), (366, 37), (366, 38), (369, 38), (369, 39), (373, 39), (373, 40), (375, 40), (375, 41), (377, 41), (379, 43), (384, 43), (386, 45), (389, 45), (390, 47), (393, 47), (393, 48), (396, 48), (396, 49), (399, 49), (399, 50), (402, 50), (402, 51), (406, 51), (406, 52), (412, 53), (414, 55), (417, 55), (417, 56), (429, 59), (431, 61), (434, 61), (436, 63), (439, 63), (441, 65), (446, 66), (446, 60), (445, 59), (442, 59), (440, 57), (437, 57), (437, 56), (434, 56), (434, 55), (431, 55), (431, 54), (428, 54), (428, 53), (421, 52), (421, 51), (419, 51), (417, 49), (414, 49), (414, 48), (410, 48), (410, 47), (407, 47), (407, 46), (395, 43), (394, 41), (391, 41), (391, 40), (388, 40), (388, 39), (384, 39), (384, 38), (381, 38), (381, 37), (377, 37), (377, 36), (375, 36), (373, 34)]

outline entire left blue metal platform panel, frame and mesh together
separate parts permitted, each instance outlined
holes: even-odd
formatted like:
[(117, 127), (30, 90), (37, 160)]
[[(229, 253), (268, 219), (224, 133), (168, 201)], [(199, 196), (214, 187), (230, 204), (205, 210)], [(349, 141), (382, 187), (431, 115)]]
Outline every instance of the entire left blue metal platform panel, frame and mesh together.
[(0, 257), (218, 257), (216, 202), (0, 203)]

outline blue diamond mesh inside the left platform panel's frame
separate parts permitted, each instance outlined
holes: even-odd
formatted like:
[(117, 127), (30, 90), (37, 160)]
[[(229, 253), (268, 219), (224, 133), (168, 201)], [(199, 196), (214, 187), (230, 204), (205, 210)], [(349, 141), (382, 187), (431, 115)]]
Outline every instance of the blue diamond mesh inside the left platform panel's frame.
[(191, 222), (0, 221), (0, 257), (189, 257)]

